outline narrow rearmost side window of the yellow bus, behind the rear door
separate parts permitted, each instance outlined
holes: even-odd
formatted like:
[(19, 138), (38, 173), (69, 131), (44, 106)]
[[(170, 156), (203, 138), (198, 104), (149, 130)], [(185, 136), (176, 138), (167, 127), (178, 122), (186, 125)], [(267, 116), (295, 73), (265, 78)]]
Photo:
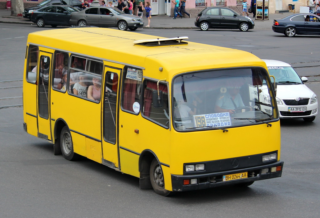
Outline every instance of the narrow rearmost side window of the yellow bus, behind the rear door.
[(38, 65), (38, 53), (39, 48), (35, 45), (29, 45), (28, 52), (28, 66), (27, 66), (27, 81), (30, 83), (36, 83), (37, 78), (37, 65)]

